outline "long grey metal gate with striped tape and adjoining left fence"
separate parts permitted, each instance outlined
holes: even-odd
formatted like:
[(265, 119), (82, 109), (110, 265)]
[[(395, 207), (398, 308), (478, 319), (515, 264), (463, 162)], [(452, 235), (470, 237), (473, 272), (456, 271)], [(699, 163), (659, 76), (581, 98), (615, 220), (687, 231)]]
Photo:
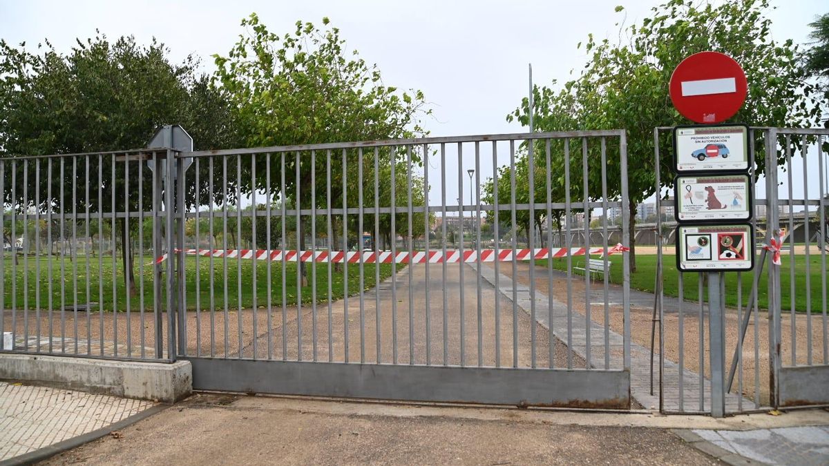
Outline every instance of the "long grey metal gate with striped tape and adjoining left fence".
[(7, 158), (2, 182), (12, 351), (187, 359), (196, 390), (631, 406), (623, 130)]

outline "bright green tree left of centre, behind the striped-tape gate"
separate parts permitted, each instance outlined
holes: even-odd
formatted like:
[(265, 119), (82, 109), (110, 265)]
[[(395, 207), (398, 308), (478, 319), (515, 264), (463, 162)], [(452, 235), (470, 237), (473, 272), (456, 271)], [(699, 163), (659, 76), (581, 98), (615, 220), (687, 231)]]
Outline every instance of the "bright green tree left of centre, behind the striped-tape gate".
[[(327, 18), (322, 23), (327, 26)], [(248, 147), (410, 138), (425, 133), (419, 125), (419, 115), (429, 113), (424, 109), (423, 94), (384, 85), (380, 70), (367, 65), (356, 51), (347, 58), (345, 41), (336, 27), (321, 30), (310, 22), (297, 22), (293, 32), (280, 36), (269, 32), (255, 13), (241, 25), (249, 34), (241, 35), (227, 56), (214, 56), (215, 79), (230, 95), (240, 135)], [(414, 163), (419, 165), (417, 148), (412, 152)], [(331, 202), (342, 206), (342, 179), (357, 180), (358, 151), (292, 155), (286, 157), (286, 185), (281, 197), (298, 197), (296, 203), (302, 209), (313, 203), (325, 206), (325, 178), (316, 178), (315, 198), (309, 187), (312, 170), (324, 173), (322, 167), (330, 157)], [(390, 164), (391, 158), (398, 160), (404, 153), (366, 149), (363, 156), (363, 172), (370, 173), (375, 157)], [(257, 156), (257, 167), (265, 167), (264, 156)], [(281, 170), (281, 163), (272, 163), (271, 179), (279, 180)], [(257, 170), (257, 187), (272, 189), (266, 186), (266, 177), (264, 169)], [(365, 199), (373, 199), (372, 185), (364, 183), (364, 187)], [(245, 189), (250, 192), (250, 187)], [(356, 206), (356, 191), (347, 191), (349, 206)], [(301, 249), (305, 249), (307, 224), (305, 216), (300, 222)], [(301, 269), (304, 283), (304, 263)]]

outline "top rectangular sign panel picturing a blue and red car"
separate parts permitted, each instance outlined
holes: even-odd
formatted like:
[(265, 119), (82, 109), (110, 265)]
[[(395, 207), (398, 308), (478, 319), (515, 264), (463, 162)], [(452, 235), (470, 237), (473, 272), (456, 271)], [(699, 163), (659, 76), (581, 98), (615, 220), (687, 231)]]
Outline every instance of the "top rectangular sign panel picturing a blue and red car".
[(744, 124), (677, 126), (676, 172), (738, 172), (749, 169), (749, 128)]

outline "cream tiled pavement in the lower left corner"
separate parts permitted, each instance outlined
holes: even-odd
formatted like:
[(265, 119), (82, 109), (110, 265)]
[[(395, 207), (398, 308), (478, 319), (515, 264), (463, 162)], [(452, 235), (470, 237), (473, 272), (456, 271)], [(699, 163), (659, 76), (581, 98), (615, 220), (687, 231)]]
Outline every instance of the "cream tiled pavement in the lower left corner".
[(0, 382), (0, 461), (124, 420), (150, 401)]

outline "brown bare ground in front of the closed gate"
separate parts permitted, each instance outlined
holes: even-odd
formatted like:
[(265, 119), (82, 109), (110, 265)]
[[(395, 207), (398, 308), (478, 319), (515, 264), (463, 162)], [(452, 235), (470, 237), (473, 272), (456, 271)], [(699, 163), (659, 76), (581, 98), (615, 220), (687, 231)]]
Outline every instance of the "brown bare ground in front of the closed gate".
[(588, 416), (197, 395), (46, 464), (716, 464), (669, 430), (574, 422)]

